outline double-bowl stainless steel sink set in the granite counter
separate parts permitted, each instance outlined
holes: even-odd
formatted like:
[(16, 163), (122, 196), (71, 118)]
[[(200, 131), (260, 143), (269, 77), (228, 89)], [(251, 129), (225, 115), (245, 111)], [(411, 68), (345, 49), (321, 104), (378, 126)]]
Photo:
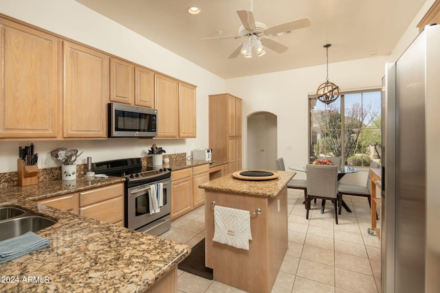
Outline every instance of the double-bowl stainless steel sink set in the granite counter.
[(0, 220), (0, 241), (23, 235), (29, 231), (36, 232), (56, 223), (56, 220), (15, 207), (2, 207), (0, 209), (0, 215), (2, 217), (3, 213), (5, 215), (5, 218)]

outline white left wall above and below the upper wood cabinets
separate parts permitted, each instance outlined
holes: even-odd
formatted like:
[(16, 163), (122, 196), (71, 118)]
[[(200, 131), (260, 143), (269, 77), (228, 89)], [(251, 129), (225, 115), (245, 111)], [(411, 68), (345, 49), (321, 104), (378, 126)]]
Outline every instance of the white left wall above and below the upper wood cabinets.
[[(78, 148), (93, 161), (145, 156), (153, 143), (168, 154), (208, 148), (208, 95), (224, 93), (224, 80), (173, 54), (74, 0), (0, 0), (0, 13), (96, 47), (197, 85), (197, 139), (108, 139), (106, 141), (0, 141), (0, 173), (17, 171), (19, 145), (34, 143), (40, 157), (58, 147)], [(39, 165), (41, 167), (41, 162)], [(50, 159), (50, 167), (55, 162)]]

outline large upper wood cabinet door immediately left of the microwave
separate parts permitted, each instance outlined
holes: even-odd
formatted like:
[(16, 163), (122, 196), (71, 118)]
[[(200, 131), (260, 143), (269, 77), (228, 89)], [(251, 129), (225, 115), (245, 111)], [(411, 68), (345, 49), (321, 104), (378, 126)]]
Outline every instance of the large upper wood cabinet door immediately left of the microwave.
[(64, 42), (64, 137), (107, 137), (109, 56)]

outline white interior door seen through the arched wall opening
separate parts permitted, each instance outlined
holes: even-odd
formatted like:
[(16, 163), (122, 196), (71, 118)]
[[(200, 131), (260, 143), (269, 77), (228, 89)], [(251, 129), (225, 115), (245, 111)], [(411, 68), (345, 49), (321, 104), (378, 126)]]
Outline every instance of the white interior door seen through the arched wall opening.
[(248, 118), (248, 169), (266, 169), (266, 120), (265, 115)]

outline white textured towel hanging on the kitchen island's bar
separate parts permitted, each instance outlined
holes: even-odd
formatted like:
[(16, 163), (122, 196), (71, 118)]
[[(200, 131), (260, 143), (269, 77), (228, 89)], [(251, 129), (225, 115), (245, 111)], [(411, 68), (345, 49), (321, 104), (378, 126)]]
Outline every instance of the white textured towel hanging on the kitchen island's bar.
[(250, 212), (230, 207), (214, 207), (214, 238), (212, 241), (249, 250)]

